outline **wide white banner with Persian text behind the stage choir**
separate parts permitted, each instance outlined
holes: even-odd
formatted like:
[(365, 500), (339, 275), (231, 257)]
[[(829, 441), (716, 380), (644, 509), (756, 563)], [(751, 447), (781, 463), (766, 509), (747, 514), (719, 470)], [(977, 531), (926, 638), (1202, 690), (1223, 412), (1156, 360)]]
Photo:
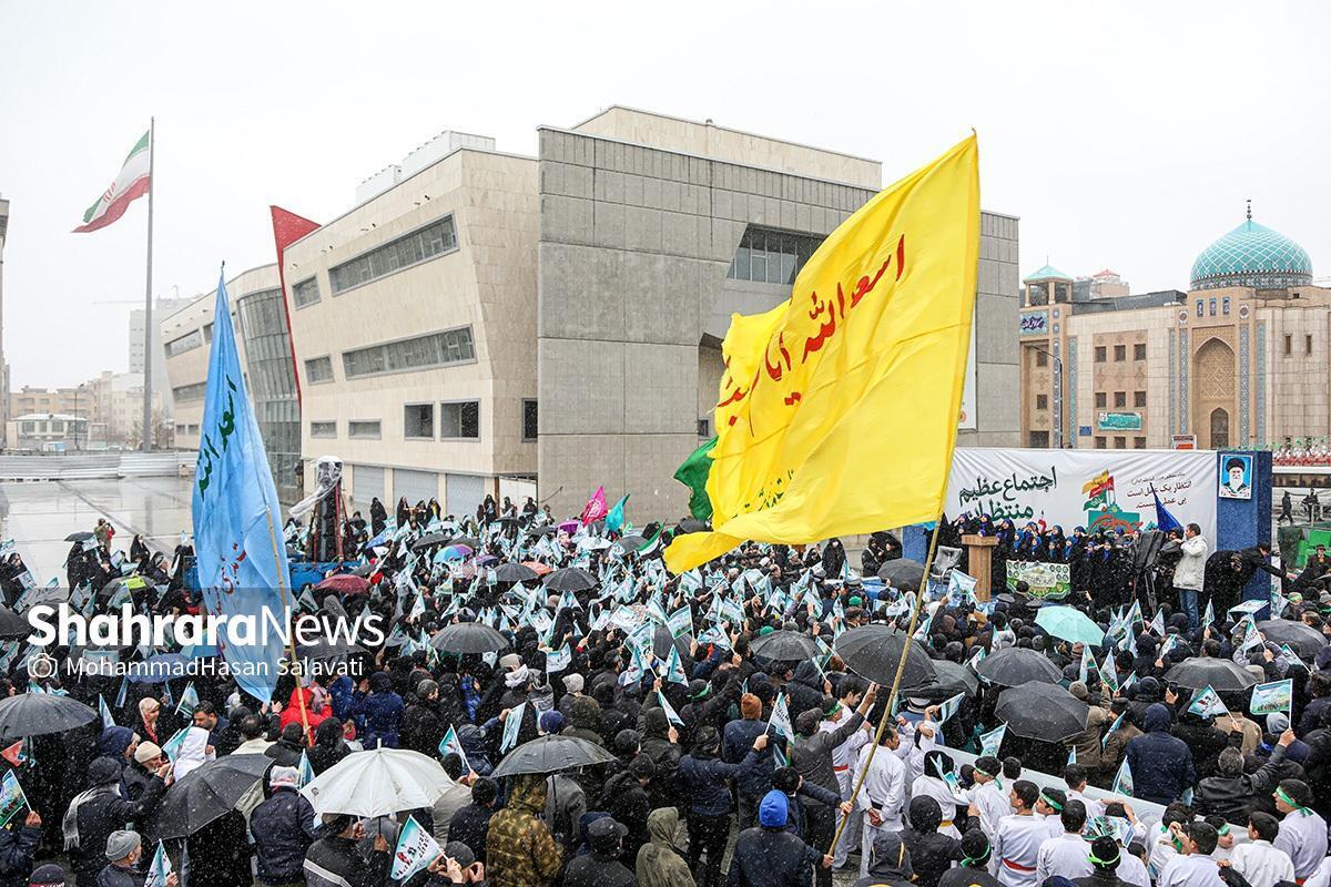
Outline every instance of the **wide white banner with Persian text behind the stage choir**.
[(1155, 500), (1215, 547), (1217, 460), (1209, 449), (990, 449), (958, 447), (946, 515), (989, 515), (1113, 532), (1155, 524)]

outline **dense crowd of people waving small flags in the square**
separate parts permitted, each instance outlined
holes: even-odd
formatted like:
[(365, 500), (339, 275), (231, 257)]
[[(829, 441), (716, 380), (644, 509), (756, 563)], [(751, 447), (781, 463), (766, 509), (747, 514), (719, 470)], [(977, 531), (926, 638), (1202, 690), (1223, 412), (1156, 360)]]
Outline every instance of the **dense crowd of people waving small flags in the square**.
[[(299, 528), (289, 529), (298, 543)], [(831, 540), (747, 544), (672, 576), (660, 555), (684, 529), (559, 524), (530, 500), (487, 500), (465, 517), (406, 501), (389, 515), (375, 500), (367, 521), (347, 519), (346, 563), (330, 568), (362, 581), (298, 590), (322, 613), (373, 613), (391, 630), (331, 660), (330, 674), (284, 676), (266, 703), (201, 676), (43, 677), (11, 641), (0, 697), (63, 694), (105, 713), (0, 737), (0, 769), (28, 802), (0, 828), (0, 887), (63, 884), (67, 874), (79, 887), (144, 884), (158, 835), (178, 831), (164, 822), (173, 787), (230, 755), (270, 766), (233, 810), (161, 840), (172, 886), (397, 884), (394, 830), (407, 815), (441, 851), (411, 887), (1331, 882), (1331, 597), (1320, 573), (1282, 574), (1286, 593), (1267, 604), (1312, 638), (1291, 646), (1270, 629), (1254, 641), (1251, 610), (1230, 612), (1267, 564), (1260, 547), (1213, 569), (1222, 552), (1207, 553), (1190, 525), (1143, 600), (1126, 567), (1131, 533), (942, 524), (941, 544), (986, 532), (1016, 556), (1073, 564), (1075, 592), (1062, 605), (1098, 625), (1103, 640), (1090, 642), (1044, 628), (1051, 604), (1024, 589), (977, 600), (965, 564), (958, 581), (944, 574), (922, 589), (878, 580), (901, 557), (889, 533), (869, 540), (862, 574)], [(445, 541), (418, 544), (426, 536)], [(146, 613), (197, 613), (190, 555), (184, 537), (166, 555), (138, 539), (120, 552), (98, 533), (75, 544), (68, 581), (92, 590), (95, 610), (128, 600)], [(32, 584), (15, 557), (0, 586), (21, 610)], [(538, 577), (499, 578), (519, 563)], [(552, 580), (574, 568), (591, 581), (560, 589)], [(129, 588), (136, 576), (145, 581)], [(106, 588), (128, 590), (98, 594)], [(465, 622), (490, 625), (504, 646), (454, 654), (433, 642)], [(856, 673), (839, 638), (873, 625), (916, 625), (910, 656), (928, 657), (929, 680), (893, 694), (888, 680)], [(812, 652), (773, 656), (791, 636)], [(1012, 685), (986, 680), (985, 662), (1009, 650), (1041, 658), (1050, 674), (1038, 680), (1078, 702), (1075, 733), (1033, 735), (1001, 717)], [(1171, 677), (1198, 657), (1229, 662), (1246, 685), (1290, 680), (1288, 709), (1254, 714), (1246, 688), (1207, 694)], [(596, 746), (606, 762), (492, 775), (546, 735)], [(451, 787), (387, 824), (314, 815), (301, 791), (309, 775), (377, 747), (439, 761)]]

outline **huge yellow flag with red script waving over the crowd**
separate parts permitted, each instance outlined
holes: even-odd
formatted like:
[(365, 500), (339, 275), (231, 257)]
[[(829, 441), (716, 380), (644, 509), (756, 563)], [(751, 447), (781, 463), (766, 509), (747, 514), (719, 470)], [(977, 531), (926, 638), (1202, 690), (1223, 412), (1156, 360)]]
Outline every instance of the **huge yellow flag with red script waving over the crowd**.
[(676, 539), (667, 565), (937, 520), (978, 262), (972, 136), (833, 231), (789, 302), (733, 315), (707, 481), (716, 531)]

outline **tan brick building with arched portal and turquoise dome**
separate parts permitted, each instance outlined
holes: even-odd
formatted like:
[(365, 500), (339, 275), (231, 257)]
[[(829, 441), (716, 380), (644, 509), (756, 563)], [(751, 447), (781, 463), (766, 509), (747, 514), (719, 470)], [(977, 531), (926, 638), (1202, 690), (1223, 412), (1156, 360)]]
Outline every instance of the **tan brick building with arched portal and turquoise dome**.
[(1193, 263), (1189, 290), (1078, 298), (1026, 277), (1021, 434), (1030, 447), (1260, 447), (1331, 434), (1331, 289), (1307, 253), (1247, 219)]

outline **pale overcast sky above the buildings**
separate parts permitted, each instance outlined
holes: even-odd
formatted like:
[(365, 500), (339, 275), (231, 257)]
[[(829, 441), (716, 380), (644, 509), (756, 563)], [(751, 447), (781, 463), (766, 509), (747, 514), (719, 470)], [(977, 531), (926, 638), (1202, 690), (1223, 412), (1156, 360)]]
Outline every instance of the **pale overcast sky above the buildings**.
[(128, 364), (138, 201), (71, 234), (157, 117), (156, 290), (272, 262), (269, 203), (327, 221), (442, 129), (535, 152), (623, 104), (882, 160), (974, 126), (1021, 270), (1186, 289), (1243, 217), (1331, 275), (1331, 4), (0, 0), (13, 387)]

